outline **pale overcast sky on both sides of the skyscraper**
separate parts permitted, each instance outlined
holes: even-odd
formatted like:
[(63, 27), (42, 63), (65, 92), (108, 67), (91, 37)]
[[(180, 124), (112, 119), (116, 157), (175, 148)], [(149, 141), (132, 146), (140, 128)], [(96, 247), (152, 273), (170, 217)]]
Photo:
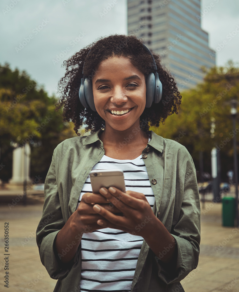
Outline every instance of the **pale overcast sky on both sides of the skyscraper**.
[[(118, 0), (102, 17), (111, 2), (1, 1), (0, 64), (8, 62), (12, 69), (26, 70), (51, 95), (64, 74), (64, 60), (100, 36), (127, 34), (127, 1)], [(223, 66), (229, 59), (239, 62), (239, 32), (235, 31), (239, 31), (239, 1), (202, 0), (201, 12), (209, 45), (218, 51), (216, 65)], [(62, 51), (65, 55), (59, 60)]]

